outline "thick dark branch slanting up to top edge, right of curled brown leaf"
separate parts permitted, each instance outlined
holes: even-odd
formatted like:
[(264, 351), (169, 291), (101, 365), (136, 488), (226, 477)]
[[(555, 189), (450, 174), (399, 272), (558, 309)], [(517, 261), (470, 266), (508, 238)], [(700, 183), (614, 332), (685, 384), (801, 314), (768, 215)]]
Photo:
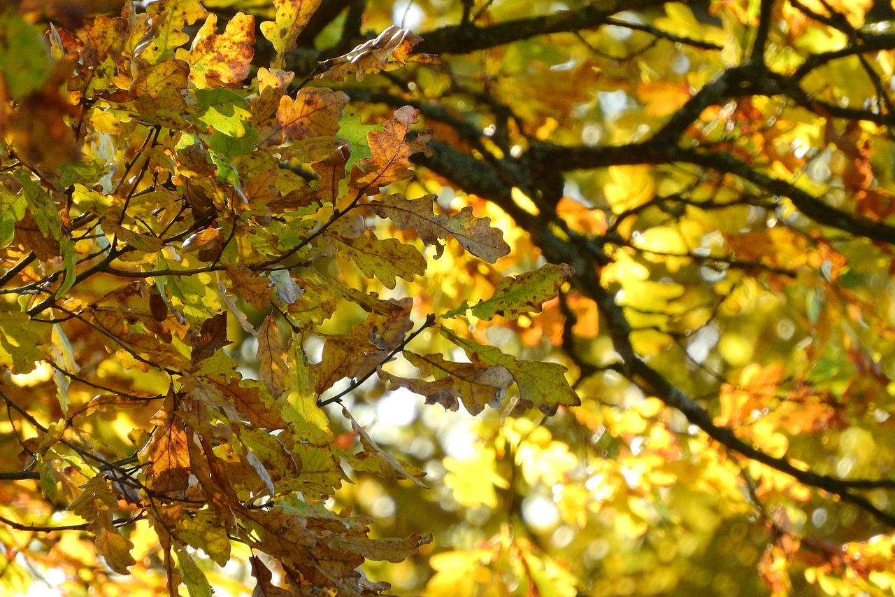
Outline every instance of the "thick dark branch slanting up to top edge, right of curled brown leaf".
[(451, 25), (421, 33), (422, 41), (413, 49), (425, 54), (469, 54), (539, 35), (593, 29), (606, 24), (606, 20), (615, 13), (642, 10), (665, 2), (666, 0), (607, 0), (586, 4), (573, 11), (514, 19), (484, 27)]

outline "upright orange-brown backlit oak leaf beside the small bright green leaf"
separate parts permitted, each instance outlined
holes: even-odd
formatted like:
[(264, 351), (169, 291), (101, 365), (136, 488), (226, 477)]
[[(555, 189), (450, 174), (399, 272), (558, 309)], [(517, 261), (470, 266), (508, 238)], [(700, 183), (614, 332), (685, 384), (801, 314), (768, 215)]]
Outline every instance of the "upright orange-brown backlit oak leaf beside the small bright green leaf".
[(367, 134), (371, 157), (360, 160), (351, 172), (351, 186), (366, 195), (376, 195), (379, 187), (411, 176), (410, 156), (421, 152), (432, 154), (428, 134), (408, 139), (410, 125), (416, 124), (419, 110), (405, 106), (395, 110), (395, 117), (383, 123), (382, 131)]

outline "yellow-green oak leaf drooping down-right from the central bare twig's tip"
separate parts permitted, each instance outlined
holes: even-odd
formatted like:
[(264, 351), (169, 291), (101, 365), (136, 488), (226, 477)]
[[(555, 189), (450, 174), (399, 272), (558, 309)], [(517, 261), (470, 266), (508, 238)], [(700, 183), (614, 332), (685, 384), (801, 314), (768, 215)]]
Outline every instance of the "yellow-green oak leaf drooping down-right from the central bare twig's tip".
[(519, 360), (493, 346), (461, 338), (445, 327), (441, 328), (441, 335), (465, 350), (473, 362), (479, 360), (506, 368), (519, 389), (519, 403), (525, 408), (537, 406), (541, 412), (552, 415), (560, 406), (581, 404), (578, 394), (568, 385), (567, 368), (558, 363)]

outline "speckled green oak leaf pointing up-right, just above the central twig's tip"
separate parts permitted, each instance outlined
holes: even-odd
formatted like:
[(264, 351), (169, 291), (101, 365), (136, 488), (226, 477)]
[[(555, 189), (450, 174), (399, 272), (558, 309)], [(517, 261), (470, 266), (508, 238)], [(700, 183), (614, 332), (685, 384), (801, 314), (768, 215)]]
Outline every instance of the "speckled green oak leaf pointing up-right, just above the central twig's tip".
[(524, 313), (540, 313), (541, 305), (556, 297), (559, 287), (574, 273), (575, 270), (567, 264), (542, 265), (533, 272), (501, 279), (490, 299), (479, 301), (473, 307), (464, 301), (462, 306), (442, 317), (460, 316), (469, 309), (473, 310), (473, 316), (487, 320), (494, 316), (516, 319)]

